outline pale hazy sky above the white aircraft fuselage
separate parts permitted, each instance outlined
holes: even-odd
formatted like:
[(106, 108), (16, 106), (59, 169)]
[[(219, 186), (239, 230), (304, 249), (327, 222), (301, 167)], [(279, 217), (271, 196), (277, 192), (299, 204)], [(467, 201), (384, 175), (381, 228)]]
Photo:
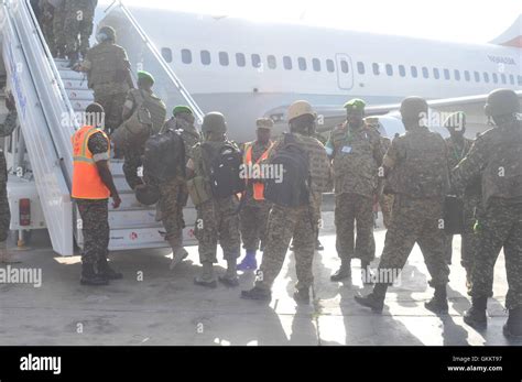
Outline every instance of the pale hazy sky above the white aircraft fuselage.
[(123, 3), (471, 43), (489, 42), (522, 14), (522, 0), (123, 0)]

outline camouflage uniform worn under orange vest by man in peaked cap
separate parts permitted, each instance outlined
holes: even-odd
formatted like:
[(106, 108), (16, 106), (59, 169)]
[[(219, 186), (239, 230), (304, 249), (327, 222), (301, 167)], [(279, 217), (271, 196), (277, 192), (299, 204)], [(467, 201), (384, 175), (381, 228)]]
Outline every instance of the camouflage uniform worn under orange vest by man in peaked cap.
[[(246, 146), (252, 146), (252, 163), (258, 163), (263, 153), (269, 150), (271, 143), (262, 145), (259, 142), (247, 143)], [(257, 251), (260, 242), (264, 244), (267, 233), (267, 222), (269, 219), (271, 204), (267, 200), (255, 200), (253, 198), (253, 185), (249, 184), (244, 195), (243, 205), (240, 212), (241, 239), (244, 249)]]

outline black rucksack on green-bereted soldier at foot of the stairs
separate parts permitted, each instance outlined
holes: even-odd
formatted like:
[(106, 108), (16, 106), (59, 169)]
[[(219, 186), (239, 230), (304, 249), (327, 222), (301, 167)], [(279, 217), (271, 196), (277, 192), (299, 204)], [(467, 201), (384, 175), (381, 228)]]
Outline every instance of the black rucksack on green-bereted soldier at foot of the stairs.
[(178, 131), (167, 129), (146, 140), (143, 175), (155, 182), (185, 176), (185, 143)]

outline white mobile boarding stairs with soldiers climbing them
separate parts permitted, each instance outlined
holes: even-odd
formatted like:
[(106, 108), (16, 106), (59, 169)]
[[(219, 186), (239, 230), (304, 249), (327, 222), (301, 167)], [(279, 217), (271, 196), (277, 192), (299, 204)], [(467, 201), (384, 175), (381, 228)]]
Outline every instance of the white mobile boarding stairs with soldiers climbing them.
[[(8, 86), (17, 101), (19, 122), (52, 245), (62, 255), (73, 255), (74, 239), (81, 247), (83, 238), (79, 215), (70, 199), (70, 138), (79, 129), (74, 116), (93, 101), (93, 92), (87, 88), (84, 74), (67, 68), (66, 61), (52, 58), (29, 1), (4, 1), (0, 6), (0, 28)], [(140, 33), (144, 32), (140, 30)], [(183, 89), (180, 92), (186, 99), (186, 90), (177, 78), (174, 86)], [(202, 112), (192, 98), (186, 101), (200, 118)], [(139, 204), (127, 185), (122, 161), (112, 160), (111, 171), (122, 204), (117, 210), (110, 206), (109, 249), (168, 247), (161, 233), (161, 222), (155, 221), (155, 207)], [(193, 207), (186, 209), (185, 220), (184, 237), (188, 244), (195, 242), (193, 227), (188, 226), (195, 222)]]

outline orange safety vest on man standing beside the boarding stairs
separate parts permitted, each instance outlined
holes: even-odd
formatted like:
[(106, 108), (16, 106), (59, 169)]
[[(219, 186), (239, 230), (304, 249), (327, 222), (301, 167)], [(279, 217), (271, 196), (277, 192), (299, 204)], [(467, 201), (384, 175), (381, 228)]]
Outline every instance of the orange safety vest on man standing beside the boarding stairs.
[[(74, 162), (73, 198), (100, 200), (110, 197), (110, 190), (101, 181), (94, 155), (88, 145), (89, 138), (99, 132), (109, 142), (109, 138), (102, 130), (91, 125), (83, 127), (72, 138)], [(110, 143), (108, 153), (110, 156)]]

